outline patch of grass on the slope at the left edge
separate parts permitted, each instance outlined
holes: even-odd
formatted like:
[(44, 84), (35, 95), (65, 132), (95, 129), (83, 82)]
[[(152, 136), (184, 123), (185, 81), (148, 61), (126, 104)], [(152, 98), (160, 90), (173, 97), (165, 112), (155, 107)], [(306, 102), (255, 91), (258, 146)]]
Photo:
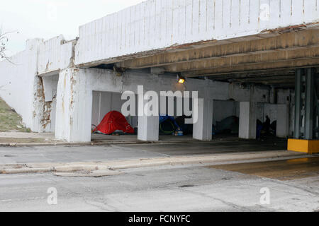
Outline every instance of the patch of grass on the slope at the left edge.
[(22, 119), (9, 105), (0, 98), (0, 132), (30, 132), (24, 128)]

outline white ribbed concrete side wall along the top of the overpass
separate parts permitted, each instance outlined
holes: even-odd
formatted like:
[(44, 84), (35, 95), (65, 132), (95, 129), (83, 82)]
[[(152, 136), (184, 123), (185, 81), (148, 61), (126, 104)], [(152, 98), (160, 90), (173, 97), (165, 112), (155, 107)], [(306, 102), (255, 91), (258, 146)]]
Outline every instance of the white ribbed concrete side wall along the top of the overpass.
[(75, 62), (267, 35), (267, 30), (316, 23), (318, 18), (317, 0), (149, 0), (82, 25)]

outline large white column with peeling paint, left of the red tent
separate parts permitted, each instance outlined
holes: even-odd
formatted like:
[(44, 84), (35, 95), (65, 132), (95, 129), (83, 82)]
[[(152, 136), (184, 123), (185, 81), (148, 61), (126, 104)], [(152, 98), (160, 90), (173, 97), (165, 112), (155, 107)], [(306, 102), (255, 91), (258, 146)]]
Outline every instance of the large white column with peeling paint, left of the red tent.
[(92, 90), (86, 69), (60, 72), (57, 84), (55, 138), (68, 142), (91, 141)]

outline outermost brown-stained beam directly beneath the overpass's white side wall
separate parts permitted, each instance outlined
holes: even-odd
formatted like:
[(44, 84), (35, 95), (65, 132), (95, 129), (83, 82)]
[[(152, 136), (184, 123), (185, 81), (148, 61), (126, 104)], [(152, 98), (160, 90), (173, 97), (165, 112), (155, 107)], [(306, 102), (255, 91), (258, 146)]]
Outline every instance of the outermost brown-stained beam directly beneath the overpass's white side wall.
[(171, 64), (191, 63), (200, 60), (221, 59), (221, 57), (245, 56), (259, 54), (260, 52), (278, 52), (282, 50), (304, 49), (319, 42), (319, 30), (303, 30), (299, 32), (286, 32), (284, 34), (228, 44), (213, 42), (205, 48), (188, 49), (179, 52), (165, 52), (150, 57), (135, 58), (123, 61), (119, 67), (142, 69), (150, 67), (168, 66)]

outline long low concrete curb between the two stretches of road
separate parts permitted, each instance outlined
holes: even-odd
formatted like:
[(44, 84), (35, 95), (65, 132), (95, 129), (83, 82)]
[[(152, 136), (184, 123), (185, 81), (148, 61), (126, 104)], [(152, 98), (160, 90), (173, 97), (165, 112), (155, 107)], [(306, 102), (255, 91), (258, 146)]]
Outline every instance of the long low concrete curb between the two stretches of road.
[[(240, 160), (276, 159), (279, 157), (310, 157), (304, 153), (289, 151), (269, 151), (257, 153), (228, 153), (216, 155), (196, 155), (184, 157), (159, 157), (142, 160), (120, 160), (115, 162), (69, 162), (69, 163), (34, 163), (21, 165), (0, 165), (0, 174), (26, 174), (40, 172), (70, 173), (79, 171), (118, 170), (163, 165), (192, 165)], [(7, 168), (6, 168), (7, 167)], [(14, 168), (12, 168), (14, 167)], [(2, 168), (2, 169), (1, 169)]]

